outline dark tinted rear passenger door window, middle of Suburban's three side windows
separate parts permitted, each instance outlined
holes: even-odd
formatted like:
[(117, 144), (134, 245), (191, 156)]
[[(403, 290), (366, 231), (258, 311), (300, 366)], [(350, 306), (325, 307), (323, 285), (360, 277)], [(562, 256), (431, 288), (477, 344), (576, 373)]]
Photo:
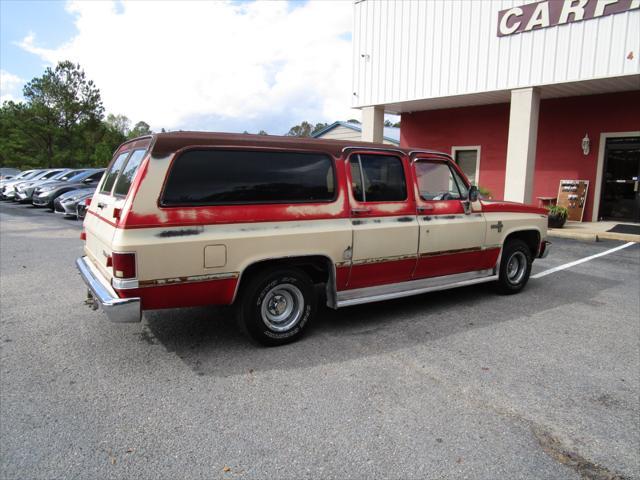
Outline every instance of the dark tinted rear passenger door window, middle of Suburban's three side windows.
[(407, 199), (402, 160), (390, 155), (357, 154), (350, 159), (354, 198), (359, 202), (400, 202)]

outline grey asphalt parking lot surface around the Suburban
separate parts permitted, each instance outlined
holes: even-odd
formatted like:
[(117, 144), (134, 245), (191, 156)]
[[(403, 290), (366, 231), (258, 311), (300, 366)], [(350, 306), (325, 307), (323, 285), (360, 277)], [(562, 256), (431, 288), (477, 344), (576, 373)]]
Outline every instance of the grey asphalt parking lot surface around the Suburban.
[[(2, 479), (640, 478), (639, 245), (268, 349), (229, 309), (90, 311), (80, 227), (0, 204)], [(555, 239), (534, 274), (621, 244)]]

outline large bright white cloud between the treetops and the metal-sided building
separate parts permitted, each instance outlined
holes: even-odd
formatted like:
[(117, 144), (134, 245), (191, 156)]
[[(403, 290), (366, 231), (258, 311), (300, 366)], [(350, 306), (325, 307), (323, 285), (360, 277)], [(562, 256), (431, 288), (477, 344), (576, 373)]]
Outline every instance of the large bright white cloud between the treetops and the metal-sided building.
[(302, 120), (359, 116), (349, 108), (352, 8), (349, 1), (74, 1), (67, 5), (74, 38), (51, 49), (29, 35), (20, 46), (50, 64), (80, 63), (107, 111), (155, 129), (283, 133)]

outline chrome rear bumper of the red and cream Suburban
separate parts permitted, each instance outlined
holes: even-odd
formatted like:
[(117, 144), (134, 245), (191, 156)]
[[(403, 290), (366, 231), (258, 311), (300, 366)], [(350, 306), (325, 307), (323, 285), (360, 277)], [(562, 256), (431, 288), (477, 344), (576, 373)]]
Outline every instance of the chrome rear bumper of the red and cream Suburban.
[(120, 298), (87, 257), (76, 260), (80, 276), (89, 288), (90, 303), (99, 306), (112, 322), (131, 323), (141, 320), (140, 298)]

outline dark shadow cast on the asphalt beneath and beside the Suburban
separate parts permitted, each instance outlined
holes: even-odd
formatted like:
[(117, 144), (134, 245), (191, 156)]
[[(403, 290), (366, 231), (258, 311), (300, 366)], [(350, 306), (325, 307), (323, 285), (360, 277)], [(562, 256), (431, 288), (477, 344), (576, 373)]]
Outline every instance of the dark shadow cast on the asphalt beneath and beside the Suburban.
[(428, 344), (576, 299), (593, 305), (598, 294), (619, 283), (572, 272), (570, 282), (558, 276), (532, 280), (519, 295), (498, 295), (491, 284), (483, 284), (337, 311), (320, 307), (303, 339), (276, 348), (253, 344), (228, 307), (151, 311), (145, 312), (140, 339), (159, 342), (198, 375), (300, 369)]

